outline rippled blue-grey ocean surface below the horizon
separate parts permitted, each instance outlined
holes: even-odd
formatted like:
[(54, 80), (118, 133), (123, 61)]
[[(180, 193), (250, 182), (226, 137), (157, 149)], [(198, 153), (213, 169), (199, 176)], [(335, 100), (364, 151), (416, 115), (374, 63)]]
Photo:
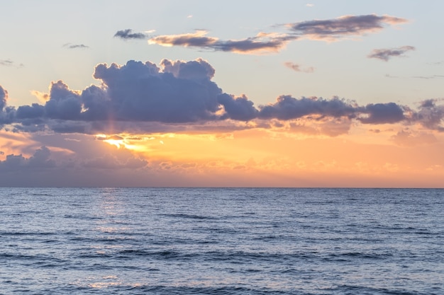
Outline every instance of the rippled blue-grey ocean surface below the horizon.
[(0, 294), (444, 294), (444, 190), (0, 188)]

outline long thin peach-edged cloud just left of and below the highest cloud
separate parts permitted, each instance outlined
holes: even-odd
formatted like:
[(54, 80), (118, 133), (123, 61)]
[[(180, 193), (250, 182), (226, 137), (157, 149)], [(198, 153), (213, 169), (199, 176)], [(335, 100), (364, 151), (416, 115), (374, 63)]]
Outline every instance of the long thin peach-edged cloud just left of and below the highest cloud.
[(180, 35), (160, 35), (148, 40), (148, 44), (162, 46), (201, 47), (209, 50), (236, 53), (277, 52), (287, 42), (296, 39), (284, 34), (259, 33), (255, 37), (243, 40), (219, 40), (216, 37), (206, 37), (206, 30), (196, 30), (194, 33)]

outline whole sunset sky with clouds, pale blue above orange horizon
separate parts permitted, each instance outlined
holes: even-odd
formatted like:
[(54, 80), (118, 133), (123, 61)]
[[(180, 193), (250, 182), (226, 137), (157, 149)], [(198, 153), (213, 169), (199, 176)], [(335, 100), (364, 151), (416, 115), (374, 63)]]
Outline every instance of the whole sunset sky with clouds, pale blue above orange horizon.
[(0, 185), (444, 187), (444, 2), (1, 1)]

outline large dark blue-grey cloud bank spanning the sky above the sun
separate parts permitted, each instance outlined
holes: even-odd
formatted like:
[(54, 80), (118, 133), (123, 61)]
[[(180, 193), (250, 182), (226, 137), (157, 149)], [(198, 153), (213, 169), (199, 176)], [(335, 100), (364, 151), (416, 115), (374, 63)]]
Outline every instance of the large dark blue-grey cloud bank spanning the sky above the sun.
[[(63, 81), (50, 84), (44, 105), (18, 108), (7, 105), (8, 93), (0, 86), (0, 125), (17, 132), (118, 133), (152, 132), (152, 126), (271, 120), (355, 120), (379, 125), (418, 122), (427, 129), (444, 131), (444, 106), (425, 100), (418, 110), (396, 103), (358, 105), (338, 97), (294, 98), (279, 96), (274, 103), (255, 106), (247, 96), (223, 92), (211, 79), (215, 70), (203, 59), (152, 62), (129, 61), (125, 65), (98, 64), (94, 78), (101, 81), (82, 91)], [(333, 121), (332, 121), (333, 122)], [(180, 128), (180, 127), (179, 127)]]

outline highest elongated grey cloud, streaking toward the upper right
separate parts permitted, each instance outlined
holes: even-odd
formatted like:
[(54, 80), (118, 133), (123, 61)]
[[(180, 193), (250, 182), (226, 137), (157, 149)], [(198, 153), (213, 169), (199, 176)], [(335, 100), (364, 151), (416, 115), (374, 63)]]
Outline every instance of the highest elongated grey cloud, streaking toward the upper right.
[(337, 41), (348, 36), (376, 33), (384, 26), (406, 23), (405, 18), (394, 16), (340, 16), (335, 19), (289, 23), (287, 27), (295, 34), (312, 40)]

